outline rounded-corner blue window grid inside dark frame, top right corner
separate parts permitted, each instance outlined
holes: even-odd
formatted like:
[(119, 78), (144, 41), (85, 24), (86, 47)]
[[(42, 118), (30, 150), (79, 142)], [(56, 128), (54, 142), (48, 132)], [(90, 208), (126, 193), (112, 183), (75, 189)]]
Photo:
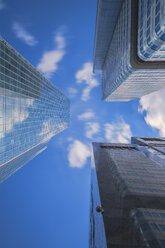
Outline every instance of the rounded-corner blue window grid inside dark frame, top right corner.
[(164, 9), (164, 0), (139, 0), (138, 56), (144, 61), (165, 60)]

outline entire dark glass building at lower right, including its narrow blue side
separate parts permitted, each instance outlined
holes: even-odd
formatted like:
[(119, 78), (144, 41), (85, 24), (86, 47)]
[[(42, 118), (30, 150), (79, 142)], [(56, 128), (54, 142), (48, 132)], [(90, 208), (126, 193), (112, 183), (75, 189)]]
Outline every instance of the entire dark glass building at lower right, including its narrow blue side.
[(150, 232), (160, 246), (143, 242), (148, 232), (144, 236), (135, 232), (139, 226), (133, 213), (139, 208), (165, 213), (165, 164), (161, 162), (165, 154), (159, 151), (162, 157), (157, 162), (159, 152), (152, 151), (160, 143), (165, 148), (165, 139), (132, 138), (132, 143), (93, 143), (90, 248), (164, 247), (165, 232), (159, 237)]

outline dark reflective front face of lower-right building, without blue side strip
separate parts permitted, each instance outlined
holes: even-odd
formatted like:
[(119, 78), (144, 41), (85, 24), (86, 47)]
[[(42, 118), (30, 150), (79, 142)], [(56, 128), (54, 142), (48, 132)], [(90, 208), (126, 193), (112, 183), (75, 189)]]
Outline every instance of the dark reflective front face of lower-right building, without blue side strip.
[[(164, 142), (164, 138), (151, 140)], [(91, 183), (93, 189), (98, 183), (107, 247), (163, 248), (165, 244), (165, 167), (138, 148), (93, 143), (97, 182), (92, 175)], [(95, 194), (92, 200), (96, 201)]]

